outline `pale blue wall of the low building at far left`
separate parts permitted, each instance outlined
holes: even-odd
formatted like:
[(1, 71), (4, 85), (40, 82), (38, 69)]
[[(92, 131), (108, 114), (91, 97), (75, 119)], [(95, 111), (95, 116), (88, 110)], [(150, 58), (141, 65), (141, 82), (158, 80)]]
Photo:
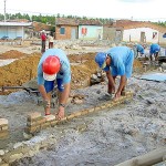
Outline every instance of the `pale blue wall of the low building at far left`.
[(24, 28), (23, 27), (0, 27), (0, 38), (9, 37), (9, 39), (15, 39), (17, 37), (22, 37), (24, 39)]

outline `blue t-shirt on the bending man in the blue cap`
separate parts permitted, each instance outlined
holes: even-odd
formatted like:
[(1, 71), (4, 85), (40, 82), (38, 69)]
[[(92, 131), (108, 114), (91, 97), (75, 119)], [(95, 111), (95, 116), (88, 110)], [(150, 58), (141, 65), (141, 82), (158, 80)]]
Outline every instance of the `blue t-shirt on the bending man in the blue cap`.
[[(134, 52), (127, 46), (115, 46), (106, 52), (111, 56), (111, 72), (113, 76), (126, 75), (131, 77), (133, 71)], [(104, 71), (110, 71), (106, 66)]]

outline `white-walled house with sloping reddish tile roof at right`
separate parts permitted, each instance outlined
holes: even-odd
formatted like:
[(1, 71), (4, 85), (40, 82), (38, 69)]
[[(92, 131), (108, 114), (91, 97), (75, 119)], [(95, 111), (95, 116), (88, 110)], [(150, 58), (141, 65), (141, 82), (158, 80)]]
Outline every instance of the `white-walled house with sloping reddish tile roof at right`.
[(125, 42), (166, 43), (166, 28), (153, 22), (117, 20), (116, 27), (123, 29), (122, 40)]

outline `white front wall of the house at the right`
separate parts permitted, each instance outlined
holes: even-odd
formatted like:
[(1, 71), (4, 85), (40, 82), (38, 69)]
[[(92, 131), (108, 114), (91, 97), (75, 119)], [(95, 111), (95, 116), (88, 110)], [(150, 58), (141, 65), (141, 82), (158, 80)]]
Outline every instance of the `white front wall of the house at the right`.
[[(136, 28), (124, 30), (123, 41), (141, 42), (141, 32), (145, 32), (147, 43), (158, 43), (158, 31), (151, 28)], [(157, 35), (153, 39), (153, 33), (155, 32), (157, 33)]]

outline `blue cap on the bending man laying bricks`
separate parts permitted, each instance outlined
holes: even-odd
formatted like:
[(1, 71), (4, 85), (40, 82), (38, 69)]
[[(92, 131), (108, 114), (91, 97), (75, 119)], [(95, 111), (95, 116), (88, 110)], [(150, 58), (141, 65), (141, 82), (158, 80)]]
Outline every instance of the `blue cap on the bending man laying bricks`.
[(98, 64), (101, 69), (105, 68), (106, 53), (98, 52), (95, 56), (95, 62)]

